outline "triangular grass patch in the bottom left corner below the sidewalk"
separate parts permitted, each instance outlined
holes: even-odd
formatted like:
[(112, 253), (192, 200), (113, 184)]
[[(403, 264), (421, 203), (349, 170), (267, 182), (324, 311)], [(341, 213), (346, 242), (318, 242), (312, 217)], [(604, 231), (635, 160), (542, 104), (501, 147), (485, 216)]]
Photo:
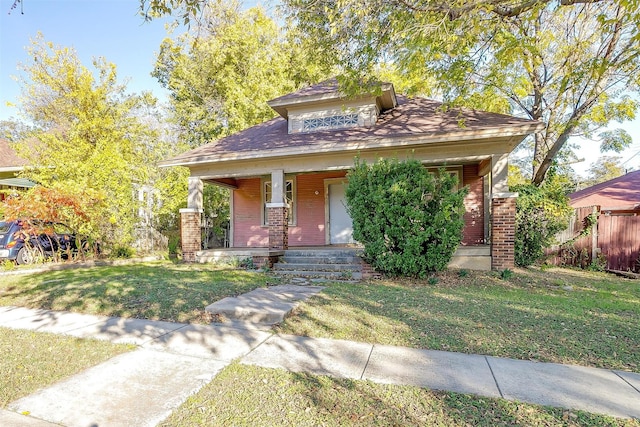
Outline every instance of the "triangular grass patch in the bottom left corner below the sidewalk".
[(0, 327), (0, 408), (133, 348)]

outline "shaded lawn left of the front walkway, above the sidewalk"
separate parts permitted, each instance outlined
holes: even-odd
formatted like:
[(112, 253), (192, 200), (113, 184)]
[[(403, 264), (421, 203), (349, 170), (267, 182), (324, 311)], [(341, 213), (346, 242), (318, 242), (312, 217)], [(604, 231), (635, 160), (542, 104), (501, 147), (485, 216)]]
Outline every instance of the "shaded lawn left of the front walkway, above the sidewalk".
[(209, 323), (204, 308), (267, 284), (267, 276), (207, 264), (101, 266), (3, 276), (0, 305)]

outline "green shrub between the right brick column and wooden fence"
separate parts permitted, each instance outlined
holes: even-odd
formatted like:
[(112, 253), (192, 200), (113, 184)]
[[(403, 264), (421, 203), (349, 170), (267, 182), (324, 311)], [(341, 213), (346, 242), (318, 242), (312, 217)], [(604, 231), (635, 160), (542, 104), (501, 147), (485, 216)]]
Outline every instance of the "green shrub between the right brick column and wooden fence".
[(521, 184), (511, 191), (518, 193), (515, 263), (527, 267), (542, 258), (554, 236), (567, 227), (572, 209), (563, 185), (553, 178), (540, 187)]

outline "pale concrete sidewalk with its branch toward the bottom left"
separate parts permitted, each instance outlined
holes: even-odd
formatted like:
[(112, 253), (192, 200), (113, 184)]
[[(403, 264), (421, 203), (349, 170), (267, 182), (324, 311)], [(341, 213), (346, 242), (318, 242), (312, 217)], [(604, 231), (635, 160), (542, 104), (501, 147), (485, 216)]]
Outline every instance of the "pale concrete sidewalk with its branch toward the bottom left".
[(138, 346), (12, 402), (0, 425), (155, 426), (235, 359), (640, 418), (640, 373), (20, 307), (0, 307), (0, 326)]

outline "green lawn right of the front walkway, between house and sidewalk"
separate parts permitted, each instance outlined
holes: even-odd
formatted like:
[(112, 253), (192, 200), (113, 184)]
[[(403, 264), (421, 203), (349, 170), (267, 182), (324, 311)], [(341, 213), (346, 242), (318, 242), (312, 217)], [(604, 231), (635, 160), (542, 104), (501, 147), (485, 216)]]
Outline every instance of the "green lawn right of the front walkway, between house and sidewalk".
[(279, 332), (640, 371), (640, 283), (566, 269), (335, 283)]

